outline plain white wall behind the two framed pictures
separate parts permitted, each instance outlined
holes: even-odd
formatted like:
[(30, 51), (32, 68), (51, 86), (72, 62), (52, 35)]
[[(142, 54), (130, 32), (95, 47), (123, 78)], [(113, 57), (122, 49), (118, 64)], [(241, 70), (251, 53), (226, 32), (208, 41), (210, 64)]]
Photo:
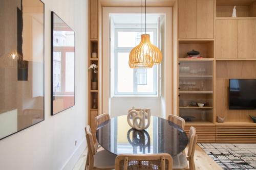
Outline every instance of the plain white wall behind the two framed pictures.
[[(72, 169), (86, 147), (88, 0), (42, 2), (45, 3), (45, 121), (0, 140), (0, 169)], [(75, 106), (54, 116), (50, 116), (51, 11), (75, 31)]]

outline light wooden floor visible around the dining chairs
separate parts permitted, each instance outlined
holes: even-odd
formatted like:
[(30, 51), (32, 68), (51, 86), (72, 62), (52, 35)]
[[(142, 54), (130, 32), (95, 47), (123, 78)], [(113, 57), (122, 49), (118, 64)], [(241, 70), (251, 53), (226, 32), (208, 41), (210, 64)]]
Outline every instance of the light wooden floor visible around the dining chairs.
[[(186, 148), (186, 151), (187, 151), (187, 148)], [(83, 152), (83, 154), (77, 161), (73, 170), (84, 170), (84, 167), (86, 166), (86, 156), (87, 156), (87, 150)], [(222, 168), (214, 160), (212, 160), (198, 145), (196, 146), (194, 158), (195, 158), (196, 169), (222, 170)]]

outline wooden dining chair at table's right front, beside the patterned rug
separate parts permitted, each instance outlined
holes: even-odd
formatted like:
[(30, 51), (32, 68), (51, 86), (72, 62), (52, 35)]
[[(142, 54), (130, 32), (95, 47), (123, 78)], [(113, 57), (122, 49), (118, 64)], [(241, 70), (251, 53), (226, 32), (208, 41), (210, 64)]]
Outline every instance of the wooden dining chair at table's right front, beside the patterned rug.
[[(175, 157), (173, 157), (173, 168), (174, 169), (184, 169), (187, 168), (189, 164), (190, 170), (196, 170), (194, 155), (195, 155), (195, 148), (197, 144), (197, 135), (196, 135), (196, 128), (190, 127), (189, 135), (188, 135), (188, 151), (187, 155), (182, 152)], [(188, 161), (188, 164), (187, 164)]]

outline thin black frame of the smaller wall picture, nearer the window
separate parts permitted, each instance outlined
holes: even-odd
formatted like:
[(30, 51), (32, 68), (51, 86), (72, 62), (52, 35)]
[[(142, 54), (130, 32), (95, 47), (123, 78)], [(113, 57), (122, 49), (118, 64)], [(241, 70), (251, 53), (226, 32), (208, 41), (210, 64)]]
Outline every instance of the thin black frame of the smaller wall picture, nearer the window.
[[(58, 17), (59, 20), (61, 20), (68, 28), (70, 31), (74, 33), (74, 74), (73, 74), (73, 81), (74, 81), (74, 91), (73, 91), (73, 105), (63, 107), (61, 110), (55, 111), (54, 110), (54, 101), (55, 101), (55, 91), (54, 91), (54, 16)], [(62, 54), (61, 54), (62, 58)], [(63, 72), (63, 71), (61, 71)], [(62, 73), (61, 73), (62, 75)], [(61, 76), (63, 77), (63, 75)], [(64, 98), (64, 97), (63, 97)], [(64, 110), (67, 110), (71, 107), (75, 106), (75, 31), (67, 25), (65, 21), (63, 21), (55, 12), (51, 11), (51, 115), (56, 115)]]

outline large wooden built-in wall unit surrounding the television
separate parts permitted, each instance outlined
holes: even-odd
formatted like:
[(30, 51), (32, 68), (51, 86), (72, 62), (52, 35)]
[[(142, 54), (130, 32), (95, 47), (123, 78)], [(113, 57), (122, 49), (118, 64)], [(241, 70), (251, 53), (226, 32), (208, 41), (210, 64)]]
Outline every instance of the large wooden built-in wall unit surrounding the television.
[[(231, 17), (235, 5), (237, 17)], [(202, 14), (199, 9), (210, 7), (214, 9), (214, 17), (211, 10), (199, 16)], [(190, 126), (196, 127), (199, 142), (255, 143), (256, 124), (252, 123), (249, 115), (256, 116), (256, 111), (229, 110), (228, 86), (231, 78), (256, 79), (256, 0), (178, 0), (177, 14), (177, 114), (195, 116), (191, 122), (186, 122), (185, 131), (188, 133)], [(202, 34), (198, 28), (204, 28)], [(193, 49), (199, 51), (203, 58), (186, 58), (186, 52)], [(184, 70), (180, 68), (182, 62), (182, 66), (191, 70), (202, 65), (208, 68), (206, 61), (211, 62), (212, 72), (206, 71), (207, 74), (201, 75), (181, 72)], [(184, 84), (180, 81), (199, 81), (200, 78), (212, 80), (207, 84), (208, 87), (212, 85), (212, 90), (180, 88)], [(207, 101), (208, 105), (202, 109), (186, 107), (191, 101)], [(205, 119), (200, 119), (202, 111), (207, 111)], [(217, 123), (217, 116), (226, 117), (225, 122)]]

